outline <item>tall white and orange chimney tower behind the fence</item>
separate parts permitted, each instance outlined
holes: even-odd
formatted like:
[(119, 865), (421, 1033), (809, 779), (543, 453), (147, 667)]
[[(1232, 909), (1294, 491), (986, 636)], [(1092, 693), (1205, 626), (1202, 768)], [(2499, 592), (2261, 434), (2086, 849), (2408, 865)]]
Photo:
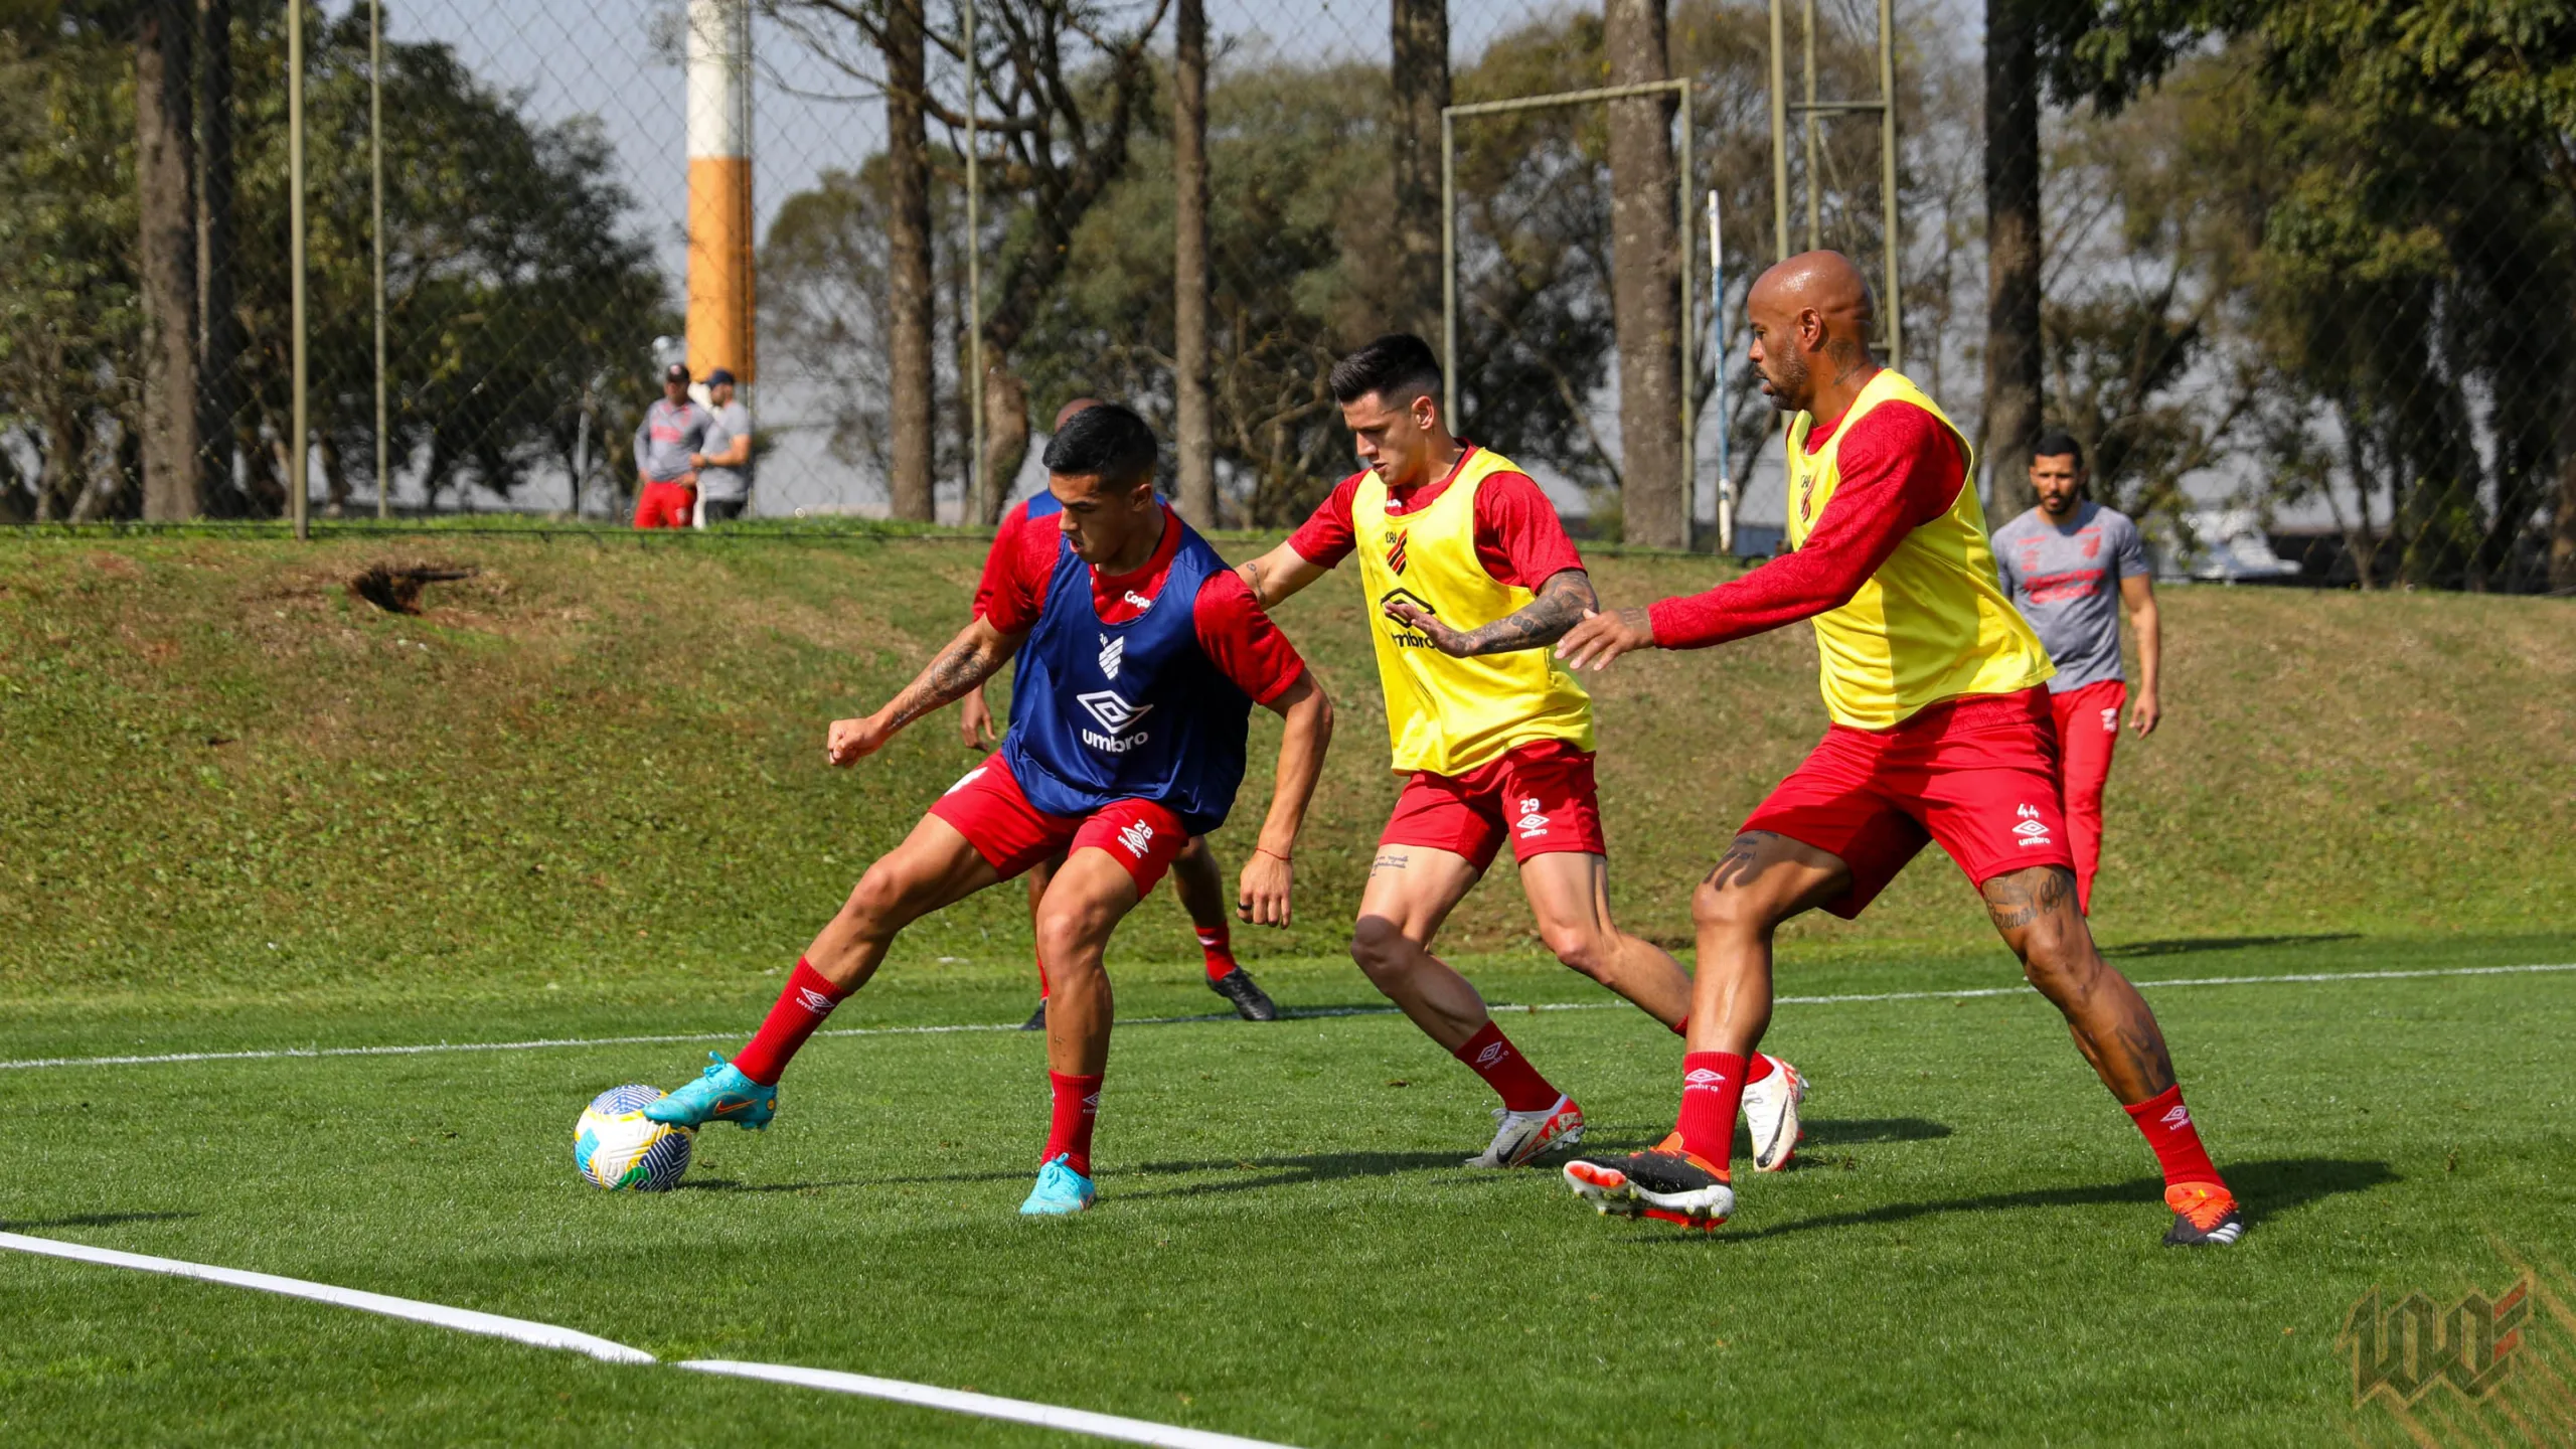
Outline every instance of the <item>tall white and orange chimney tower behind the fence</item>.
[(757, 371), (750, 0), (688, 0), (688, 371), (719, 366)]

